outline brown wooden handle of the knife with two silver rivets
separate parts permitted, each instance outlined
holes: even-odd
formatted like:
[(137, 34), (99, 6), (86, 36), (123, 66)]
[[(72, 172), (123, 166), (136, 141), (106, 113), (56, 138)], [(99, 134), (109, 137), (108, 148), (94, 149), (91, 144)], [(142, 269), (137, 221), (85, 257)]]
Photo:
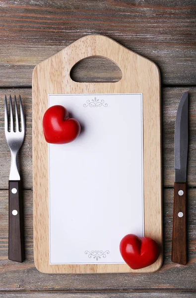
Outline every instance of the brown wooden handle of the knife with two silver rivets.
[(186, 183), (174, 184), (172, 262), (186, 265)]

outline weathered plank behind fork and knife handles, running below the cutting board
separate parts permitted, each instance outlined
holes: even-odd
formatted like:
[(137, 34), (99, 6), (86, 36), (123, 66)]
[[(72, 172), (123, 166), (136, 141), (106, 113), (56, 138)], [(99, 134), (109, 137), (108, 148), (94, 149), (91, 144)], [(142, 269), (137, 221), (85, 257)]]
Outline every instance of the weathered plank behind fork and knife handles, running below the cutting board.
[[(8, 191), (0, 191), (0, 290), (1, 291), (196, 291), (196, 189), (188, 190), (188, 263), (171, 261), (172, 249), (172, 188), (164, 190), (164, 263), (153, 274), (42, 274), (33, 260), (33, 199), (32, 191), (24, 191), (25, 250), (23, 263), (12, 262), (8, 255)], [(22, 295), (22, 294), (21, 294)], [(37, 293), (36, 293), (37, 295)]]

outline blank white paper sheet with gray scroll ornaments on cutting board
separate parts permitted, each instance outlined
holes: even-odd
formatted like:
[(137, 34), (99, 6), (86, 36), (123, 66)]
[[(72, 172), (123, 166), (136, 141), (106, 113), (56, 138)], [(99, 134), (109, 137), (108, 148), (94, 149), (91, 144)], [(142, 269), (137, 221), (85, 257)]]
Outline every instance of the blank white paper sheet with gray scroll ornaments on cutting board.
[(82, 132), (49, 145), (50, 264), (125, 263), (128, 233), (143, 235), (142, 94), (49, 95)]

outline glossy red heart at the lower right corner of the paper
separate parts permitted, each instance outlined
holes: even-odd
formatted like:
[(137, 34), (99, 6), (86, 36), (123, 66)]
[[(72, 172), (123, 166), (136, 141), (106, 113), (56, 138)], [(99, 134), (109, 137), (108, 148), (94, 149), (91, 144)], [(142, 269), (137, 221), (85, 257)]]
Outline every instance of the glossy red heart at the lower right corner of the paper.
[(120, 252), (124, 261), (132, 269), (140, 269), (153, 264), (159, 257), (159, 245), (149, 237), (139, 238), (126, 235), (120, 243)]

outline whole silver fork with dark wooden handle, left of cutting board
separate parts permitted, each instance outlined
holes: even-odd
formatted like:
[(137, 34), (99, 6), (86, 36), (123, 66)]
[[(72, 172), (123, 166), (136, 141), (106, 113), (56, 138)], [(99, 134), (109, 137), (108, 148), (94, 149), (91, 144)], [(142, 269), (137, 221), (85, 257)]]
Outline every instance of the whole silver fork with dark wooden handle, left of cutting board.
[(10, 103), (10, 132), (8, 124), (7, 98), (5, 95), (5, 117), (4, 128), (7, 145), (11, 151), (11, 168), (9, 174), (9, 244), (8, 259), (17, 262), (24, 260), (24, 237), (23, 237), (23, 208), (20, 196), (20, 175), (18, 171), (18, 151), (25, 137), (25, 119), (21, 97), (19, 95), (21, 131), (19, 129), (19, 116), (17, 110), (16, 96), (15, 105), (15, 131), (11, 95)]

